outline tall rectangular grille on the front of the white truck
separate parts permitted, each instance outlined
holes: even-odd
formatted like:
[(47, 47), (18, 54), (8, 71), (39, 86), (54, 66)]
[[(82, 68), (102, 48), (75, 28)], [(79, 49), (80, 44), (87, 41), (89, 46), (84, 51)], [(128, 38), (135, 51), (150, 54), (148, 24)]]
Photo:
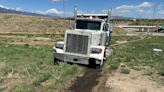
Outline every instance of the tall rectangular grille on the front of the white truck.
[(67, 34), (66, 52), (87, 55), (88, 52), (87, 35)]

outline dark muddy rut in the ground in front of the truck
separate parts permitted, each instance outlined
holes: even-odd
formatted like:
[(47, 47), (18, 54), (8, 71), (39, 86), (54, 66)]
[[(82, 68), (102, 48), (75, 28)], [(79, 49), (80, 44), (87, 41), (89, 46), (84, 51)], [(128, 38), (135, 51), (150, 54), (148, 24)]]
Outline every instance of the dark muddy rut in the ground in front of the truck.
[(71, 92), (91, 92), (92, 88), (98, 85), (96, 81), (101, 77), (101, 69), (88, 69), (84, 76), (77, 78), (74, 85), (69, 88)]

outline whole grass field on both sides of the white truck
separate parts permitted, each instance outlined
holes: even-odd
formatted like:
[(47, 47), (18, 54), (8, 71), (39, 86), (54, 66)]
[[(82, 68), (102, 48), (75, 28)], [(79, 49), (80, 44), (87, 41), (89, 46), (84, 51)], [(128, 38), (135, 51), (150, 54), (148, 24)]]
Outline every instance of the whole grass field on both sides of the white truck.
[[(11, 42), (44, 42), (31, 39), (36, 35), (17, 36), (26, 36), (26, 38), (0, 38), (0, 91), (62, 90), (70, 85), (70, 81), (85, 72), (84, 67), (63, 62), (60, 66), (54, 66), (53, 53), (55, 51), (51, 45), (10, 44)], [(58, 36), (64, 37), (64, 35), (56, 37)], [(53, 35), (37, 35), (36, 37), (55, 39)], [(111, 44), (115, 44), (116, 41), (130, 41), (142, 37), (142, 35), (112, 36)], [(114, 56), (109, 58), (104, 65), (106, 73), (114, 73), (121, 64), (124, 64), (121, 65), (120, 73), (130, 74), (131, 69), (145, 71), (143, 75), (152, 76), (152, 80), (164, 85), (164, 78), (161, 77), (164, 75), (164, 52), (152, 51), (154, 48), (164, 50), (163, 37), (148, 36), (145, 40), (113, 48)]]

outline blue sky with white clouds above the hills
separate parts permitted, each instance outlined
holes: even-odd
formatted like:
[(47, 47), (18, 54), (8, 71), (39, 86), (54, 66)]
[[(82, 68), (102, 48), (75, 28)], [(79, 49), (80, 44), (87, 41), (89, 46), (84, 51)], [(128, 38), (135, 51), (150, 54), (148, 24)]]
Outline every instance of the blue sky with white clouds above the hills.
[[(73, 16), (77, 6), (78, 13), (107, 14), (112, 7), (112, 16), (152, 18), (158, 3), (161, 4), (156, 7), (155, 18), (164, 18), (163, 0), (66, 0), (65, 11), (66, 16)], [(63, 16), (63, 0), (0, 0), (0, 7)]]

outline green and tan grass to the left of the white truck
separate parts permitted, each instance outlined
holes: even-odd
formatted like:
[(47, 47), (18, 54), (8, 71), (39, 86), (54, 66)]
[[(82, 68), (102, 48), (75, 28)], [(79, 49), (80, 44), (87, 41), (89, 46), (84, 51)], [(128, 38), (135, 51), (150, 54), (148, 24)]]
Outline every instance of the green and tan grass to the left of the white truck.
[[(3, 81), (19, 79), (23, 82), (13, 82), (10, 91), (27, 92), (31, 90), (33, 92), (63, 89), (69, 81), (83, 73), (85, 68), (63, 62), (55, 66), (54, 52), (52, 46), (48, 45), (40, 46), (38, 49), (35, 46), (29, 47), (28, 44), (9, 45), (7, 48), (0, 45), (0, 86), (3, 85)], [(45, 81), (50, 81), (50, 83), (42, 85)], [(9, 91), (9, 89), (3, 88), (3, 91)]]

